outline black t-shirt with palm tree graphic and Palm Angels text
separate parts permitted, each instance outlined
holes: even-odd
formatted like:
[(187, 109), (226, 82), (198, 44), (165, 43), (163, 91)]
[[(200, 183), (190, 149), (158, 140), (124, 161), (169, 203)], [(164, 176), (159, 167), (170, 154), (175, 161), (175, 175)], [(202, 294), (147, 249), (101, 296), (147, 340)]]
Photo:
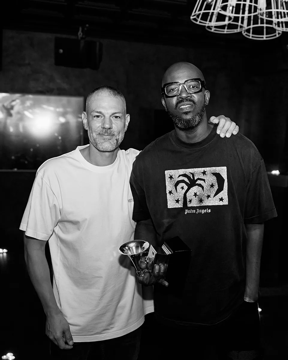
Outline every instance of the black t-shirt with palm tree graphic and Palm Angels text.
[[(133, 219), (152, 219), (161, 242), (180, 237), (192, 250), (180, 293), (156, 284), (155, 312), (177, 324), (215, 324), (243, 301), (245, 224), (277, 216), (263, 159), (241, 134), (214, 126), (198, 143), (172, 131), (136, 157), (130, 177)], [(179, 264), (179, 276), (181, 264)]]

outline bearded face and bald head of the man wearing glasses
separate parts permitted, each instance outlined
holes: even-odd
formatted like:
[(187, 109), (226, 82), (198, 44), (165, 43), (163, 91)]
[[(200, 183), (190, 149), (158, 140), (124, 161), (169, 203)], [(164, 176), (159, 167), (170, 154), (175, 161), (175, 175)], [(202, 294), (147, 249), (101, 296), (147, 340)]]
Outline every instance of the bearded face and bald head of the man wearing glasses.
[[(180, 84), (188, 79), (201, 78), (204, 80), (202, 72), (190, 63), (176, 63), (166, 71), (163, 84), (177, 81)], [(189, 130), (198, 126), (205, 114), (205, 106), (209, 102), (209, 91), (202, 88), (200, 93), (190, 94), (185, 87), (181, 87), (179, 95), (172, 98), (162, 98), (162, 104), (174, 124), (180, 130)]]

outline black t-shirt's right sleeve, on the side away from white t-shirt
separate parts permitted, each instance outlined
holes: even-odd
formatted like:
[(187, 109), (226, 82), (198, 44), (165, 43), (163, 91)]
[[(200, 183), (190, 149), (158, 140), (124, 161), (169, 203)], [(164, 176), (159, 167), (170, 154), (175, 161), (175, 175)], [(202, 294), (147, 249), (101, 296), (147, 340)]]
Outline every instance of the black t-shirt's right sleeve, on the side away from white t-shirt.
[(268, 176), (263, 159), (252, 171), (247, 185), (246, 209), (244, 222), (256, 224), (276, 217)]

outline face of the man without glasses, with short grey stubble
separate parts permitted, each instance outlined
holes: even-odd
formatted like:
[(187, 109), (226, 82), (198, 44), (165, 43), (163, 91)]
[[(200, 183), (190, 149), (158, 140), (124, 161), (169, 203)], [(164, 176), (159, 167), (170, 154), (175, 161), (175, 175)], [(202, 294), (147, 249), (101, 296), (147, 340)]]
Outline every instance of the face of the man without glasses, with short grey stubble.
[(130, 121), (125, 100), (108, 93), (91, 96), (82, 113), (90, 144), (100, 152), (112, 152), (121, 144)]

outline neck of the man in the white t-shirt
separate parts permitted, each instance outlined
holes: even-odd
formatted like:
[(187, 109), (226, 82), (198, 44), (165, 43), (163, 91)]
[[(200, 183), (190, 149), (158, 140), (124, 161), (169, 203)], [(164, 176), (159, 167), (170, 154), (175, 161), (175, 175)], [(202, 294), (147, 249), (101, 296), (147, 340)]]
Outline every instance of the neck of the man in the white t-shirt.
[(84, 159), (90, 164), (95, 166), (108, 166), (113, 164), (116, 160), (118, 149), (116, 148), (113, 151), (103, 152), (96, 149), (89, 141), (89, 146), (80, 150), (80, 153)]

